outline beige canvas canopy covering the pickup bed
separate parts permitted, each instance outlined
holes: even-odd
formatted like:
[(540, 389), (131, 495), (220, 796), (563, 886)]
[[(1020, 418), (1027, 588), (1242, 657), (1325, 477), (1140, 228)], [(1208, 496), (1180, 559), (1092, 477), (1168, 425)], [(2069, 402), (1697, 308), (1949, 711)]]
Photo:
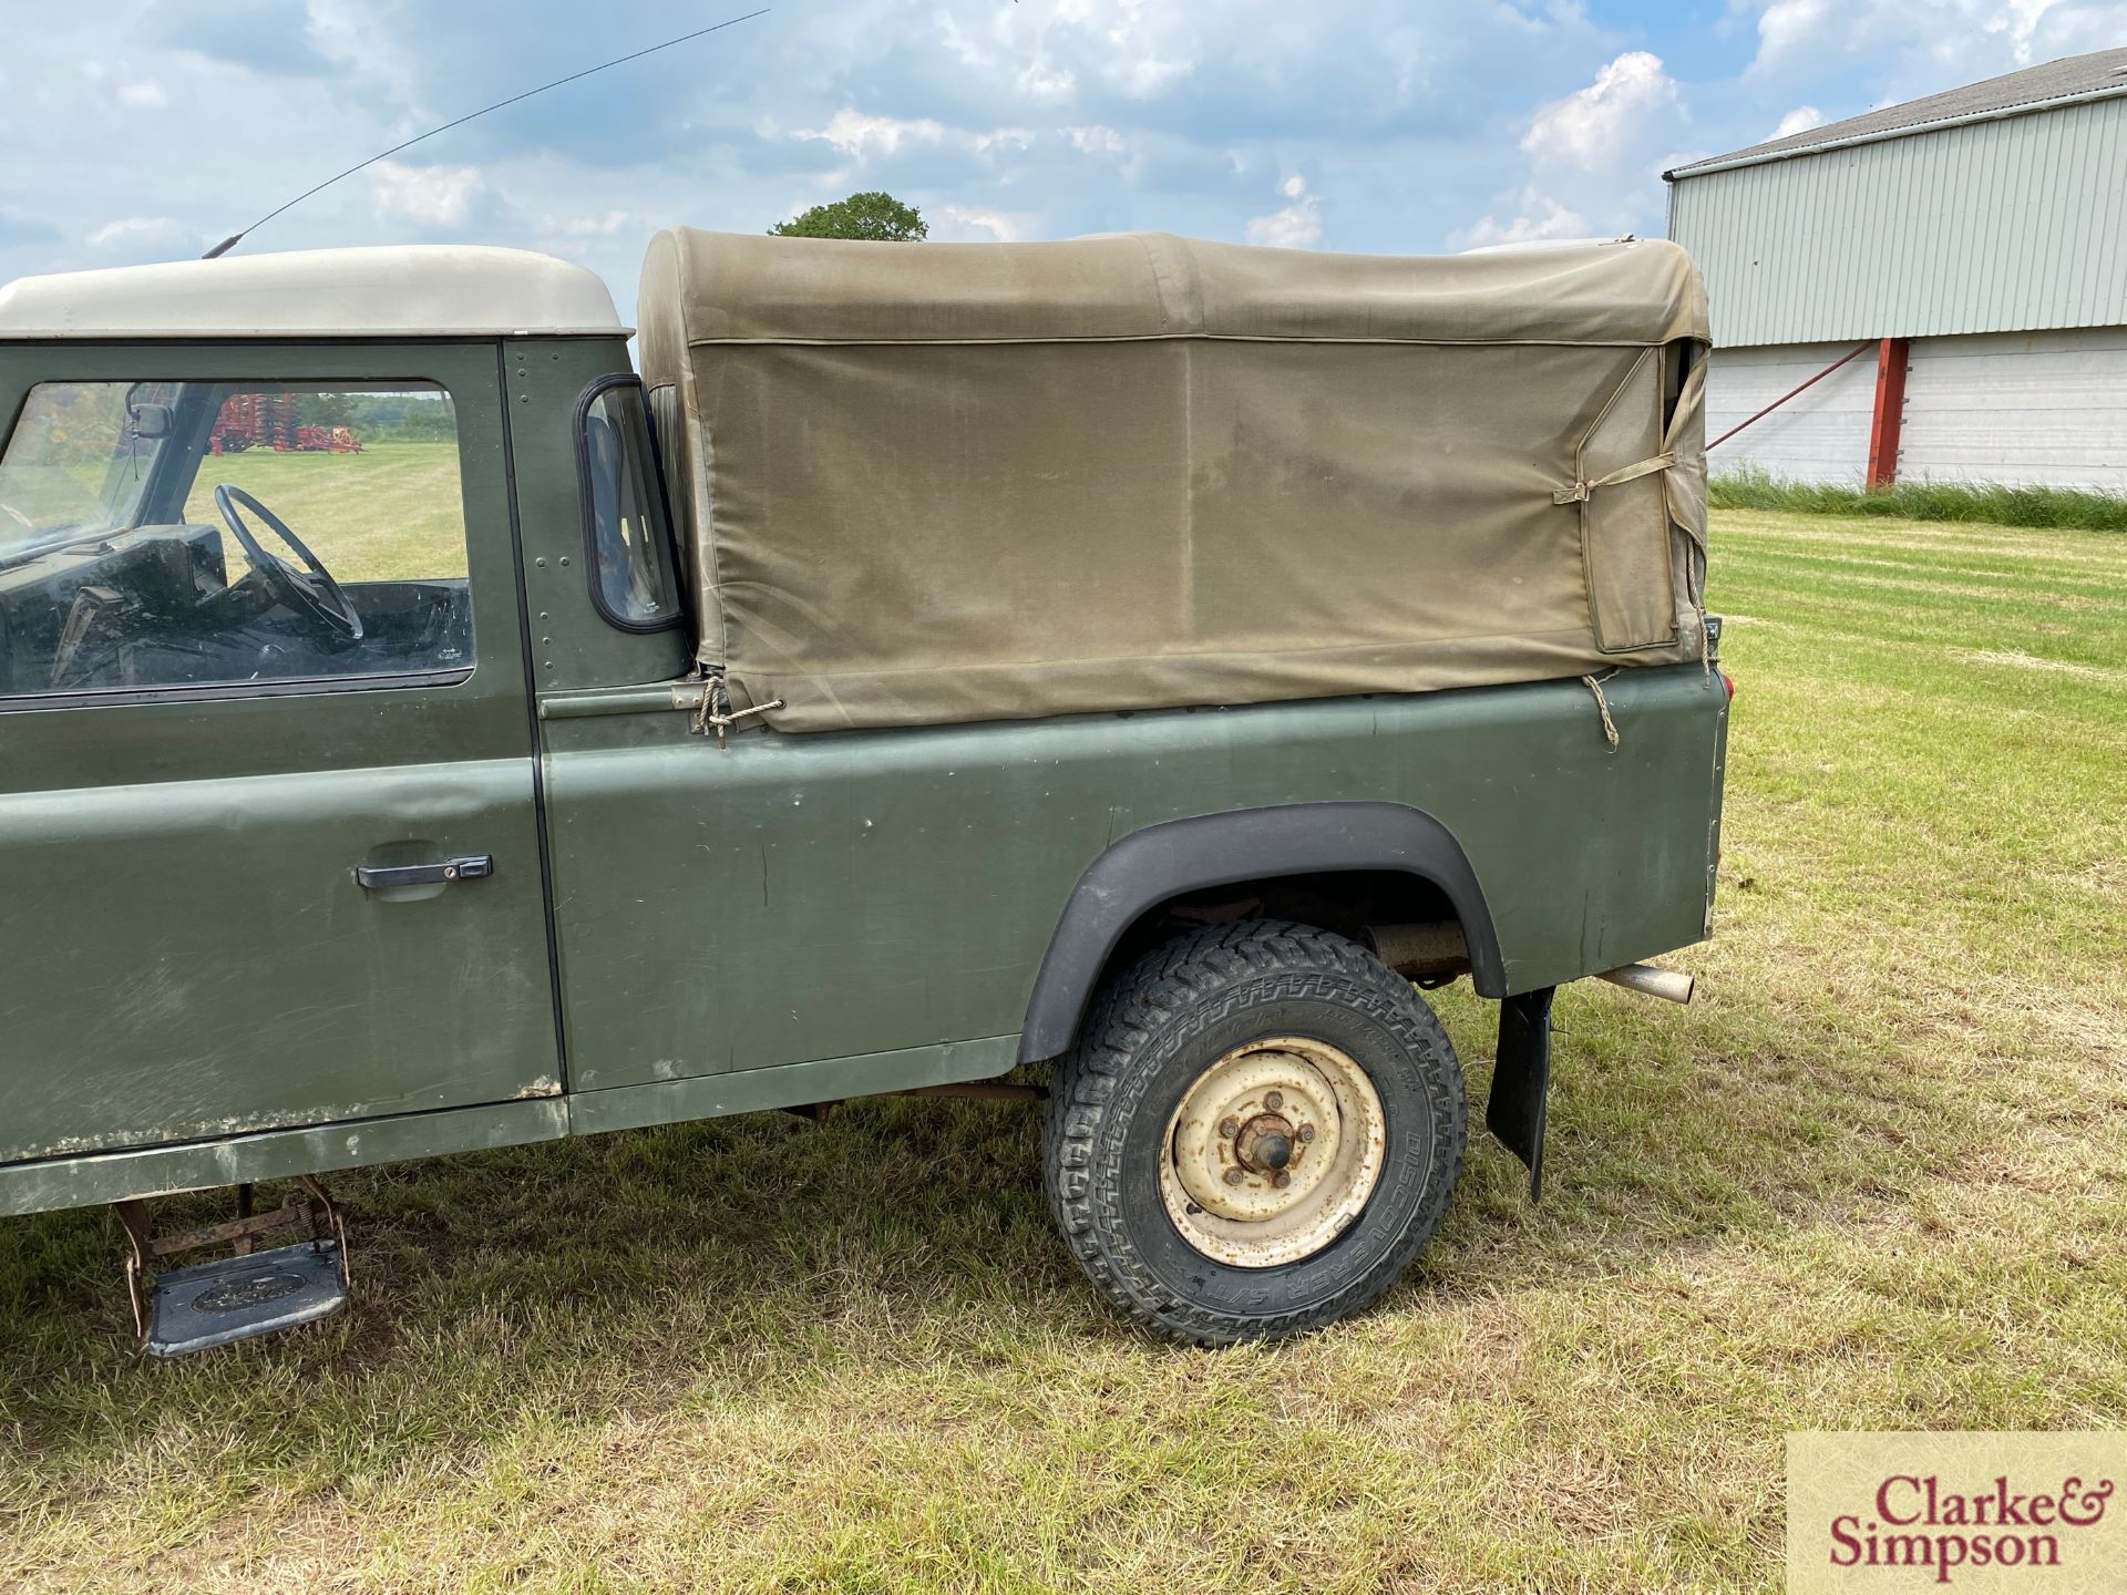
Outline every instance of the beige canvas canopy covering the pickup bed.
[(668, 230), (638, 317), (700, 661), (778, 729), (1704, 649), (1706, 296), (1668, 242)]

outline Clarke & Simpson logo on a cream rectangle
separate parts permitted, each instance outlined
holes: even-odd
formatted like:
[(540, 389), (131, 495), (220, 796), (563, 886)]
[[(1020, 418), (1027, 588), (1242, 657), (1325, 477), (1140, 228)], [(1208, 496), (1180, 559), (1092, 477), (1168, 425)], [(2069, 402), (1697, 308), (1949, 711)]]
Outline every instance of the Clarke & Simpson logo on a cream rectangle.
[(1787, 1438), (1789, 1591), (2127, 1591), (2121, 1433)]

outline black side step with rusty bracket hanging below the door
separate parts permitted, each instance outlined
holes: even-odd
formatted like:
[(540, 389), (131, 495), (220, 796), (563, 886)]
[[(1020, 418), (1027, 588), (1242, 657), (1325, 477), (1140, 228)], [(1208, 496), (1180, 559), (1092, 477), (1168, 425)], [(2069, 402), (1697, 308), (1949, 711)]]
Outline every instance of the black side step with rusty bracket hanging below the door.
[[(347, 1306), (347, 1225), (323, 1185), (308, 1174), (298, 1174), (296, 1185), (300, 1193), (272, 1212), (251, 1212), (251, 1187), (240, 1185), (234, 1219), (174, 1236), (153, 1231), (145, 1202), (113, 1204), (132, 1240), (125, 1287), (145, 1355), (230, 1346)], [(308, 1240), (253, 1250), (259, 1236), (298, 1223), (308, 1225)], [(164, 1257), (204, 1246), (234, 1246), (234, 1255), (155, 1272)]]

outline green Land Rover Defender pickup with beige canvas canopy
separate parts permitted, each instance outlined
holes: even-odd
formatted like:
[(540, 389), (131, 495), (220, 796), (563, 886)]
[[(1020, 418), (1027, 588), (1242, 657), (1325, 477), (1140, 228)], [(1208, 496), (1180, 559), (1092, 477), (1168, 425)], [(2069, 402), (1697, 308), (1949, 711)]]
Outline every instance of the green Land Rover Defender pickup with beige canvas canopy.
[(334, 1170), (889, 1091), (1044, 1097), (1100, 1291), (1283, 1336), (1440, 1223), (1421, 987), (1500, 1002), (1531, 1185), (1553, 991), (1689, 995), (1672, 245), (672, 230), (638, 315), (455, 247), (0, 289), (0, 1214), (115, 1204), (151, 1353), (340, 1306)]

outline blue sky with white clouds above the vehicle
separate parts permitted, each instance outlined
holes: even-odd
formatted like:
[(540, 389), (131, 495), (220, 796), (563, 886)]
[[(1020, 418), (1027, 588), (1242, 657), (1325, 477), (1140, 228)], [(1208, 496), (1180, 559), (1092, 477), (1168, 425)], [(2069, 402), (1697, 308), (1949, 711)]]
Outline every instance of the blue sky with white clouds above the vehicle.
[[(247, 251), (502, 242), (623, 313), (661, 225), (885, 187), (934, 238), (1659, 232), (1659, 172), (2127, 43), (2127, 0), (772, 0), (419, 145)], [(744, 11), (0, 0), (0, 279), (198, 255), (428, 125)]]

